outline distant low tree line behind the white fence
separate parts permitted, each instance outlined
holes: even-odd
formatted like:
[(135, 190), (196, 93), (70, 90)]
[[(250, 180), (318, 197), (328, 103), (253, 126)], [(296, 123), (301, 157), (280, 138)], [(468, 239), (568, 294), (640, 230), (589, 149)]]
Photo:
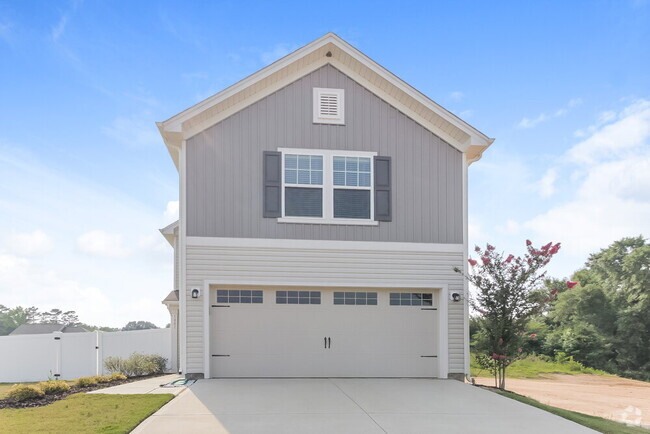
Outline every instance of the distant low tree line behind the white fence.
[(8, 308), (0, 304), (0, 336), (6, 336), (22, 324), (64, 324), (69, 326), (83, 327), (88, 331), (128, 331), (128, 330), (145, 330), (157, 329), (158, 327), (149, 321), (129, 321), (124, 327), (101, 327), (79, 322), (77, 313), (73, 310), (63, 311), (61, 309), (51, 309), (41, 312), (37, 307), (17, 306)]

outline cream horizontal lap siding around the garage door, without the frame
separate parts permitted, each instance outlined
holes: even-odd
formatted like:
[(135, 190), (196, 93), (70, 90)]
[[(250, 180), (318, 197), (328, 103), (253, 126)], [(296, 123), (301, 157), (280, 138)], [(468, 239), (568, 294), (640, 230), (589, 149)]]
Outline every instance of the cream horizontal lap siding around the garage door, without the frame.
[[(234, 247), (219, 245), (219, 239), (187, 239), (187, 288), (203, 288), (205, 282), (230, 285), (294, 287), (379, 287), (412, 288), (448, 285), (450, 291), (463, 292), (463, 278), (453, 271), (462, 267), (463, 253), (400, 251), (382, 243), (382, 248), (336, 248), (287, 246)], [(268, 244), (272, 244), (272, 241)], [(374, 243), (373, 243), (374, 244)], [(202, 297), (207, 296), (203, 294)], [(203, 303), (186, 298), (187, 371), (204, 373)], [(448, 303), (449, 372), (464, 372), (463, 303)]]

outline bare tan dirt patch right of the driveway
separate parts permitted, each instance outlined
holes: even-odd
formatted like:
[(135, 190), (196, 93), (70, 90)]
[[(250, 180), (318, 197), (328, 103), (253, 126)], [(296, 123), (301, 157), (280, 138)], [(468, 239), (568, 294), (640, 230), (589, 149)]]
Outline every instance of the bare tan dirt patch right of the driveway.
[[(476, 383), (494, 386), (494, 379), (479, 377)], [(553, 407), (650, 427), (650, 383), (643, 381), (546, 374), (539, 379), (507, 378), (506, 389)]]

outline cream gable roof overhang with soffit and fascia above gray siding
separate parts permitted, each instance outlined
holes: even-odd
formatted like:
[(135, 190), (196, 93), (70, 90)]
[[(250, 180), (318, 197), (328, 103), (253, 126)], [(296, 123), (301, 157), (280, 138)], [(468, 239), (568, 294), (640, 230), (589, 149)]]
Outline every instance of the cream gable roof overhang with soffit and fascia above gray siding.
[(157, 122), (176, 167), (183, 140), (328, 63), (465, 153), (468, 163), (477, 161), (494, 141), (339, 36), (327, 33), (168, 120)]

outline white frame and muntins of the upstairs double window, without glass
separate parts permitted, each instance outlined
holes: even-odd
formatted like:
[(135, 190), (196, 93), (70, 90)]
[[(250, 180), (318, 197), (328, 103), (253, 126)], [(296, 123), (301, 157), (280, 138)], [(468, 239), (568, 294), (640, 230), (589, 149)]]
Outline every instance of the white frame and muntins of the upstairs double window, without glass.
[[(326, 225), (357, 225), (377, 226), (378, 221), (374, 220), (375, 215), (375, 168), (372, 158), (377, 156), (376, 152), (361, 151), (336, 151), (329, 149), (296, 149), (278, 148), (282, 153), (282, 217), (278, 217), (278, 223), (309, 223)], [(323, 185), (302, 185), (287, 184), (288, 187), (322, 188), (323, 189), (323, 217), (291, 217), (284, 214), (284, 156), (286, 154), (298, 155), (322, 155), (323, 156)], [(355, 187), (345, 185), (334, 185), (334, 157), (364, 157), (370, 158), (370, 187)], [(369, 190), (370, 191), (370, 218), (369, 219), (343, 219), (334, 218), (334, 189), (347, 190)]]

